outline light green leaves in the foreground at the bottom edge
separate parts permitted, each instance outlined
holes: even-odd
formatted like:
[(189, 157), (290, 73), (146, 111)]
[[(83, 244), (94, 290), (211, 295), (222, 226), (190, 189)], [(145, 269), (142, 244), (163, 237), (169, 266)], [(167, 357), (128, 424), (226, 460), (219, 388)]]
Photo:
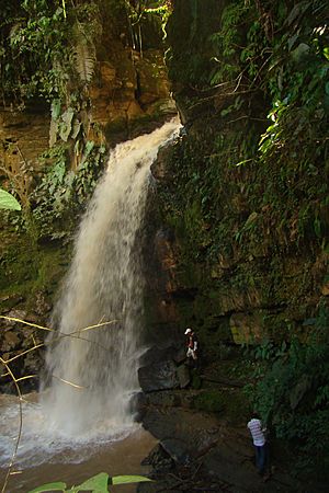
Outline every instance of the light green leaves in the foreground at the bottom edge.
[(72, 492), (78, 493), (80, 491), (91, 491), (93, 493), (107, 493), (109, 484), (129, 484), (129, 483), (140, 483), (145, 481), (151, 481), (144, 475), (114, 475), (112, 478), (109, 477), (105, 472), (100, 472), (97, 475), (93, 475), (83, 483), (71, 486), (67, 489), (66, 483), (56, 482), (56, 483), (47, 483), (42, 486), (37, 486), (34, 490), (31, 490), (29, 493), (42, 493), (42, 492), (53, 492), (53, 491), (61, 491), (61, 492)]

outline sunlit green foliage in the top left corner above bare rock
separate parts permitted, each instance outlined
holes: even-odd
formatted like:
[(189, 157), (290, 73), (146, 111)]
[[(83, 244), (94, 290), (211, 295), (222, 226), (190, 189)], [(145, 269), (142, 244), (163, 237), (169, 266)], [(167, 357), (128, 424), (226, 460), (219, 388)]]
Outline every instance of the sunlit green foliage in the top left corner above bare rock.
[(94, 39), (101, 32), (98, 4), (3, 0), (0, 25), (2, 100), (21, 108), (34, 96), (65, 101), (71, 81), (90, 82)]

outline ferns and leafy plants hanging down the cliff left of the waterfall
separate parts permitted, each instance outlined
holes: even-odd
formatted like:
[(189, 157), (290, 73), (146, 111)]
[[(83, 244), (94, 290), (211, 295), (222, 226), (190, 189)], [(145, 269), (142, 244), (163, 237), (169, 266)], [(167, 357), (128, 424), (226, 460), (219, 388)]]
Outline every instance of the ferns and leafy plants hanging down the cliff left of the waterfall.
[[(21, 217), (9, 218), (18, 229), (25, 228), (35, 240), (69, 236), (72, 218), (83, 209), (103, 169), (104, 135), (90, 124), (89, 94), (101, 49), (102, 16), (131, 32), (132, 47), (140, 45), (141, 51), (145, 21), (164, 22), (169, 11), (169, 1), (3, 1), (3, 105), (29, 110), (37, 104), (50, 111), (49, 150), (38, 159), (41, 176), (35, 180), (35, 163), (25, 167), (24, 176), (2, 169), (24, 209)], [(88, 140), (90, 135), (93, 140)]]

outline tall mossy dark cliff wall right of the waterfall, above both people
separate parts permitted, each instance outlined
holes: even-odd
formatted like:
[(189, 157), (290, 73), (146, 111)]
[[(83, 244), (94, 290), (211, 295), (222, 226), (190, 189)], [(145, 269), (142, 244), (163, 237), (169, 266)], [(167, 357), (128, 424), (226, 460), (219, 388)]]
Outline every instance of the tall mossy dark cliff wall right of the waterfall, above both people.
[(327, 62), (310, 51), (303, 59), (297, 36), (290, 50), (275, 37), (276, 27), (309, 33), (305, 12), (287, 10), (288, 23), (280, 15), (275, 7), (177, 0), (168, 25), (184, 129), (154, 167), (159, 305), (170, 309), (150, 317), (177, 333), (195, 326), (214, 354), (223, 341), (306, 337), (329, 294), (327, 96), (324, 81), (317, 101), (293, 88), (293, 70), (314, 64), (310, 83)]

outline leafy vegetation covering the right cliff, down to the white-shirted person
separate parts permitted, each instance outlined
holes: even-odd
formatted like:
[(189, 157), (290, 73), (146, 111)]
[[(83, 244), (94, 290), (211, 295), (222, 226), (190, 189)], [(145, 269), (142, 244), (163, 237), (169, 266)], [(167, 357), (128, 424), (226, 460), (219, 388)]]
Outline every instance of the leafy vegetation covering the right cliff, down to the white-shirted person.
[(178, 300), (178, 309), (200, 323), (201, 337), (209, 313), (213, 337), (224, 316), (269, 311), (257, 328), (256, 402), (300, 451), (299, 466), (324, 470), (326, 310), (307, 343), (300, 334), (319, 300), (328, 305), (319, 289), (329, 243), (327, 2), (213, 1), (212, 19), (191, 3), (179, 2), (169, 20), (169, 73), (188, 131), (159, 193), (178, 243), (179, 287), (203, 297), (193, 294), (188, 308)]

